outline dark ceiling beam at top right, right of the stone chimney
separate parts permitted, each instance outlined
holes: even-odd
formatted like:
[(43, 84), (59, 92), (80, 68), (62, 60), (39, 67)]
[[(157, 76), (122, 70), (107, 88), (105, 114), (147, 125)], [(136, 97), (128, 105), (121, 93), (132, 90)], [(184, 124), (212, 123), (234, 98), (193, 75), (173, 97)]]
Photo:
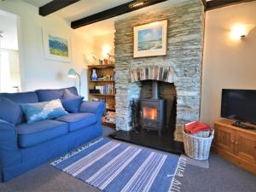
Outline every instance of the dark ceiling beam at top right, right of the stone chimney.
[(207, 2), (206, 10), (224, 8), (230, 5), (253, 2), (255, 0), (212, 0)]

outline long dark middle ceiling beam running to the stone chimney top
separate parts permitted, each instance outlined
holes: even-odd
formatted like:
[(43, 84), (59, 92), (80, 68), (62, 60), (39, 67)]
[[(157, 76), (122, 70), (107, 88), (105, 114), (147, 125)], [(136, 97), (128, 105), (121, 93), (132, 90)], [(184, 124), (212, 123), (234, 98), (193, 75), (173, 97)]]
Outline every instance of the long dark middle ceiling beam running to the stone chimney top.
[(90, 15), (87, 17), (84, 17), (83, 19), (80, 20), (74, 20), (71, 22), (71, 27), (73, 29), (79, 28), (81, 26), (87, 26), (90, 25), (92, 23), (96, 23), (98, 21), (101, 20), (107, 20), (109, 18), (118, 16), (118, 15), (124, 15), (126, 13), (129, 13), (131, 11), (135, 11), (137, 9), (142, 9), (145, 7), (148, 7), (150, 5), (154, 5), (156, 3), (162, 3), (165, 2), (167, 0), (148, 0), (145, 3), (143, 3), (143, 5), (137, 6), (137, 7), (133, 7), (131, 8), (129, 5), (131, 5), (131, 3), (135, 3), (137, 1), (131, 1), (130, 3), (125, 3), (125, 4), (121, 4), (117, 7), (114, 7), (112, 9), (108, 9), (108, 10), (104, 10), (100, 13), (97, 13), (95, 15)]

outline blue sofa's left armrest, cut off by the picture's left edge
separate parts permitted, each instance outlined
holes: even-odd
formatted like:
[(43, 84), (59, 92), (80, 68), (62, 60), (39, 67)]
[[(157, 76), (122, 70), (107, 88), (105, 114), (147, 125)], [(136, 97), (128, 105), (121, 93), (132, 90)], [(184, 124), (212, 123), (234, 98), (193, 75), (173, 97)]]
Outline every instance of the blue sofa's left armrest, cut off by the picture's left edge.
[(15, 125), (0, 119), (0, 166), (21, 162)]

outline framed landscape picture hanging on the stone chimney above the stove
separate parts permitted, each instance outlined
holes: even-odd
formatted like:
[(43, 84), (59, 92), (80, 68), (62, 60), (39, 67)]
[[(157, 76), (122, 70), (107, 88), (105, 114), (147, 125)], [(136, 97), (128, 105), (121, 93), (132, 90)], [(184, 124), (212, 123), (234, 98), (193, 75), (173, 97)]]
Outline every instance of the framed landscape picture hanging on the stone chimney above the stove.
[(167, 20), (134, 26), (133, 57), (166, 55)]

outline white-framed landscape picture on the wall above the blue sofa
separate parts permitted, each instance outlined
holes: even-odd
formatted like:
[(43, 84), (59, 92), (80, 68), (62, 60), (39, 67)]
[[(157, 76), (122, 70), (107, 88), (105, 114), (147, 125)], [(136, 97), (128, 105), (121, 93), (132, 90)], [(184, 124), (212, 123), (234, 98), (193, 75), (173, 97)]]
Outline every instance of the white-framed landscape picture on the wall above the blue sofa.
[(43, 30), (44, 56), (57, 61), (71, 61), (70, 38)]

